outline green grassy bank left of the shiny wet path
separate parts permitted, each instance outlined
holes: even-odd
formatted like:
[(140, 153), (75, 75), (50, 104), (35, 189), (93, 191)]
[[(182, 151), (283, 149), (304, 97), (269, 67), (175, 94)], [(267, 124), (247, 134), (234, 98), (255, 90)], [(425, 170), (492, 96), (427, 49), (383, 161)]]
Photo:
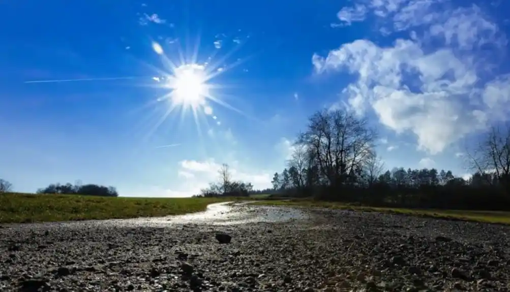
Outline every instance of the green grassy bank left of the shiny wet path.
[(79, 195), (0, 195), (0, 223), (54, 222), (180, 215), (236, 198), (112, 198)]

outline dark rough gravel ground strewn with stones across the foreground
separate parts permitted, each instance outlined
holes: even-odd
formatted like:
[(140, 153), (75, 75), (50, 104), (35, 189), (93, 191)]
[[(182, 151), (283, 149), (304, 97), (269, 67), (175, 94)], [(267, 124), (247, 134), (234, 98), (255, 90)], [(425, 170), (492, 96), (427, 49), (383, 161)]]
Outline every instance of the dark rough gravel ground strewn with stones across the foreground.
[[(263, 210), (235, 208), (252, 214)], [(236, 225), (4, 226), (0, 290), (510, 290), (510, 227), (303, 212), (306, 219)], [(230, 236), (218, 234), (232, 241), (222, 244), (219, 240)]]

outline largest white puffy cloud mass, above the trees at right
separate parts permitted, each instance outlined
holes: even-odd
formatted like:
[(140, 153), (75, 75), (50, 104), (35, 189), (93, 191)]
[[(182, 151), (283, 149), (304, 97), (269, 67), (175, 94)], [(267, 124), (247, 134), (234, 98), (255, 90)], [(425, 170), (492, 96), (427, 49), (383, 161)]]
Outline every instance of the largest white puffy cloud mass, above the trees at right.
[[(506, 37), (480, 8), (451, 7), (446, 0), (370, 0), (353, 9), (391, 25), (389, 33), (410, 31), (409, 39), (399, 34), (389, 46), (355, 40), (312, 57), (318, 73), (357, 76), (342, 92), (357, 114), (373, 111), (389, 129), (413, 132), (418, 148), (431, 154), (506, 118), (510, 74), (498, 75), (501, 61), (490, 56), (503, 56)], [(346, 15), (341, 20), (348, 23), (364, 19)]]

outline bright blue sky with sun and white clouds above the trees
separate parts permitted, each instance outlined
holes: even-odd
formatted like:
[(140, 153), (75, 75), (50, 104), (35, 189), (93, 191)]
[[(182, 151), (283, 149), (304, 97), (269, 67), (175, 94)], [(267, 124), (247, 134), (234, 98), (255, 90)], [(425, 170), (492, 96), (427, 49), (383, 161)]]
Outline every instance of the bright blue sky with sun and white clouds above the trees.
[(510, 1), (27, 3), (0, 2), (0, 178), (18, 192), (190, 196), (222, 163), (268, 188), (325, 108), (367, 118), (387, 168), (465, 176), (510, 117)]

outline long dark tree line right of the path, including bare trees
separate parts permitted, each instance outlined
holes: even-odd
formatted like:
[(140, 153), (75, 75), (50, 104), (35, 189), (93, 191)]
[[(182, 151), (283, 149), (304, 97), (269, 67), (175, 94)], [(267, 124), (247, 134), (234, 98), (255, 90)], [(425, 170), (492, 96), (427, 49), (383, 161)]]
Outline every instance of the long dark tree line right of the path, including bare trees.
[(274, 174), (273, 189), (373, 206), (510, 209), (510, 128), (493, 128), (467, 153), (469, 180), (433, 168), (385, 170), (377, 138), (366, 119), (319, 111), (296, 137), (287, 167)]

